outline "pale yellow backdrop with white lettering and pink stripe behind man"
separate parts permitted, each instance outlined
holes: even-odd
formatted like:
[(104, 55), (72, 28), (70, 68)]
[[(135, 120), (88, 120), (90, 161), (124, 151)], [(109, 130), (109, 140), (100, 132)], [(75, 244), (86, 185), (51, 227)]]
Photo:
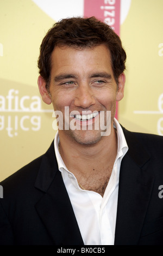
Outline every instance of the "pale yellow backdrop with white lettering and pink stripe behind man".
[(95, 16), (120, 36), (126, 86), (116, 118), (134, 132), (163, 135), (162, 10), (160, 0), (0, 1), (0, 181), (54, 139), (53, 106), (42, 102), (37, 58), (48, 29), (66, 17)]

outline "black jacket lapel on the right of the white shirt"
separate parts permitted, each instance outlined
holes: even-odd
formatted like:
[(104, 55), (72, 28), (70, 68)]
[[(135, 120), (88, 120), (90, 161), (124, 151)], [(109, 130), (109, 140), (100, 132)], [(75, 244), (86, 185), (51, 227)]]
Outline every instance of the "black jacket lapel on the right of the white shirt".
[(123, 128), (129, 150), (122, 159), (118, 192), (115, 245), (136, 245), (151, 197), (154, 176), (150, 156), (136, 136)]

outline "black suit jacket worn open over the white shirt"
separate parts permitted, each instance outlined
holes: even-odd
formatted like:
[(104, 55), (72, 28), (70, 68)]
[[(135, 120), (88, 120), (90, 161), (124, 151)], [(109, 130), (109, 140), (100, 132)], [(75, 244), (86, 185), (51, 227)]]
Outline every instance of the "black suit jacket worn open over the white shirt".
[[(163, 245), (163, 137), (123, 132), (115, 245)], [(53, 142), (1, 185), (0, 245), (83, 245)]]

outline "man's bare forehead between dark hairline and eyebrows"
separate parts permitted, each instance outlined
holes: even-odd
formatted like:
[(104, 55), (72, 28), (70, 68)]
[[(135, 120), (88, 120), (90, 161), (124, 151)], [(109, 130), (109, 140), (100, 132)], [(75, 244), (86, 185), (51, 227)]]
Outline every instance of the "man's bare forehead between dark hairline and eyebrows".
[(109, 53), (105, 45), (84, 50), (57, 46), (51, 59), (51, 71), (55, 73), (57, 80), (68, 77), (77, 78), (82, 74), (89, 77), (103, 76), (109, 78), (112, 74)]

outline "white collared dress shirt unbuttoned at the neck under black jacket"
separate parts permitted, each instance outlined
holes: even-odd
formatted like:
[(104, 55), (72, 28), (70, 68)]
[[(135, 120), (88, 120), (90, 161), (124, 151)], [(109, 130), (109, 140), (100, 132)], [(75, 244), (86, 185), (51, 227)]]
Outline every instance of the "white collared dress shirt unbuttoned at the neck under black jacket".
[(58, 168), (70, 197), (84, 245), (114, 245), (120, 165), (128, 151), (123, 130), (116, 119), (114, 126), (117, 129), (117, 156), (103, 197), (79, 187), (76, 177), (67, 170), (60, 156), (58, 132), (55, 135), (54, 148)]

